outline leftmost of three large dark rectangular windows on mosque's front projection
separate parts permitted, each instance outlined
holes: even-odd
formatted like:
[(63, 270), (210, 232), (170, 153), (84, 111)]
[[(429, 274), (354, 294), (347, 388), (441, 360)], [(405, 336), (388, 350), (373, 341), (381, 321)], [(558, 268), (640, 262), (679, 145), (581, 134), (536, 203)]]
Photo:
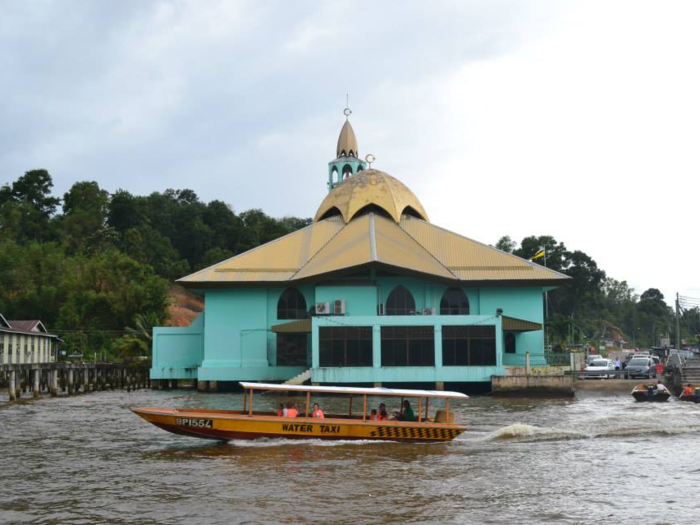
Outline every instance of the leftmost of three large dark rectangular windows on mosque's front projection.
[(320, 327), (319, 361), (322, 367), (372, 366), (372, 327)]

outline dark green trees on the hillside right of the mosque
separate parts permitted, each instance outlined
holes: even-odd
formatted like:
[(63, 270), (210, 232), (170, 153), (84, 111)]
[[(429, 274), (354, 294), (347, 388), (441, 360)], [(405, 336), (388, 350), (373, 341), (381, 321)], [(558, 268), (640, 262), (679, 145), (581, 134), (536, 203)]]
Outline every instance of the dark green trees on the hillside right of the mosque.
[[(520, 244), (501, 237), (496, 248), (525, 259), (544, 248), (546, 257), (532, 262), (568, 275), (571, 280), (548, 295), (547, 325), (551, 342), (560, 348), (622, 338), (629, 346), (648, 348), (670, 336), (677, 347), (675, 312), (657, 288), (637, 295), (626, 281), (618, 281), (580, 250), (569, 250), (551, 236), (525, 237)], [(696, 343), (700, 310), (681, 311), (681, 339)]]

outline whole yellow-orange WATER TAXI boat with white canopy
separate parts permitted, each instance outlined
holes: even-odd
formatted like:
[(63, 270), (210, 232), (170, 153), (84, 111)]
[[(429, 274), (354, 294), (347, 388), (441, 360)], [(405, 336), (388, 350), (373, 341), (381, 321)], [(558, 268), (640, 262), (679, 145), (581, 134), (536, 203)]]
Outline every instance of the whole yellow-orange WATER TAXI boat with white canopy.
[[(204, 439), (368, 439), (378, 441), (451, 441), (467, 428), (454, 422), (451, 399), (468, 399), (459, 392), (406, 390), (392, 388), (354, 388), (333, 386), (277, 385), (240, 383), (244, 389), (243, 410), (199, 410), (172, 408), (132, 408), (149, 423), (168, 432)], [(281, 391), (306, 394), (305, 410), (297, 417), (253, 410), (257, 391)], [(346, 415), (328, 414), (312, 417), (312, 395), (334, 394), (348, 397)], [(259, 396), (260, 394), (258, 394)], [(362, 411), (353, 414), (353, 397), (360, 396)], [(400, 398), (400, 411), (395, 418), (372, 419), (367, 405), (370, 396)], [(444, 405), (430, 418), (430, 401), (443, 400)], [(316, 399), (320, 401), (321, 398)], [(404, 405), (412, 400), (416, 406), (413, 421), (406, 421)], [(410, 405), (410, 401), (409, 401)], [(413, 411), (413, 408), (411, 408)], [(410, 419), (410, 416), (408, 417)]]

